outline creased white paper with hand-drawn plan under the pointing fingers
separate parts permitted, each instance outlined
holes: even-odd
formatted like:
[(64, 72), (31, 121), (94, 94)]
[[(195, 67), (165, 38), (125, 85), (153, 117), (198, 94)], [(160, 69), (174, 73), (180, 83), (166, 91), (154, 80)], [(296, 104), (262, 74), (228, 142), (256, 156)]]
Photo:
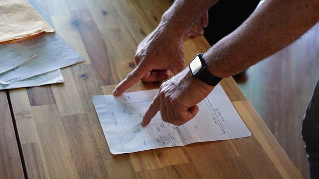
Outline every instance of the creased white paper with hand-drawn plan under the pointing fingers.
[(92, 97), (112, 154), (251, 135), (220, 85), (198, 104), (199, 112), (186, 124), (174, 126), (163, 122), (158, 112), (148, 126), (142, 127), (142, 117), (157, 92), (145, 90), (119, 97)]

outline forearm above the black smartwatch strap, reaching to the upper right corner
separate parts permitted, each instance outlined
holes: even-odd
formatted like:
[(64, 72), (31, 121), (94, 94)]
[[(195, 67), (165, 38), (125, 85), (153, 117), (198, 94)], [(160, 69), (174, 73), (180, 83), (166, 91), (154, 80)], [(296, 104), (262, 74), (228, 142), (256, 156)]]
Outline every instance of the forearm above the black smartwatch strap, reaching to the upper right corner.
[(318, 0), (266, 0), (208, 52), (209, 71), (225, 78), (290, 45), (319, 21)]

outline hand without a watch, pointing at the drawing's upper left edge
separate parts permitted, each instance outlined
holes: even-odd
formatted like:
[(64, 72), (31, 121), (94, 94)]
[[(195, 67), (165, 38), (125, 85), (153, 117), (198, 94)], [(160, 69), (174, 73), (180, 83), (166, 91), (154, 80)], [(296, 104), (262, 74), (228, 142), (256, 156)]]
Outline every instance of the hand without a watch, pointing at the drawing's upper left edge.
[(162, 81), (184, 69), (184, 46), (182, 35), (173, 34), (159, 25), (137, 47), (137, 67), (115, 88), (113, 95), (121, 95), (139, 80)]

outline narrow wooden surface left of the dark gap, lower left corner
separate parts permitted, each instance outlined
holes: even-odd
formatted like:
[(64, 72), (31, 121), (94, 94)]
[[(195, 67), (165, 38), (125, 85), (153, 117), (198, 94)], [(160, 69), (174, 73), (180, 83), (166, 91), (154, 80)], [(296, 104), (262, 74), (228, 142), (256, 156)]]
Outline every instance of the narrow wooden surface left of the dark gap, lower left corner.
[(7, 95), (0, 91), (0, 179), (24, 178)]

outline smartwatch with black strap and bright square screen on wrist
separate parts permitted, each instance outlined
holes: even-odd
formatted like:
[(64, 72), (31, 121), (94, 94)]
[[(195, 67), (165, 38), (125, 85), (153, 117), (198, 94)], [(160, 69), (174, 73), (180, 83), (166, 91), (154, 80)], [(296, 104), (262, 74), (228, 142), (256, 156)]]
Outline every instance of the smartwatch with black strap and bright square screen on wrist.
[(222, 78), (211, 74), (206, 67), (203, 53), (197, 54), (189, 63), (189, 69), (193, 78), (198, 78), (210, 86), (216, 86)]

